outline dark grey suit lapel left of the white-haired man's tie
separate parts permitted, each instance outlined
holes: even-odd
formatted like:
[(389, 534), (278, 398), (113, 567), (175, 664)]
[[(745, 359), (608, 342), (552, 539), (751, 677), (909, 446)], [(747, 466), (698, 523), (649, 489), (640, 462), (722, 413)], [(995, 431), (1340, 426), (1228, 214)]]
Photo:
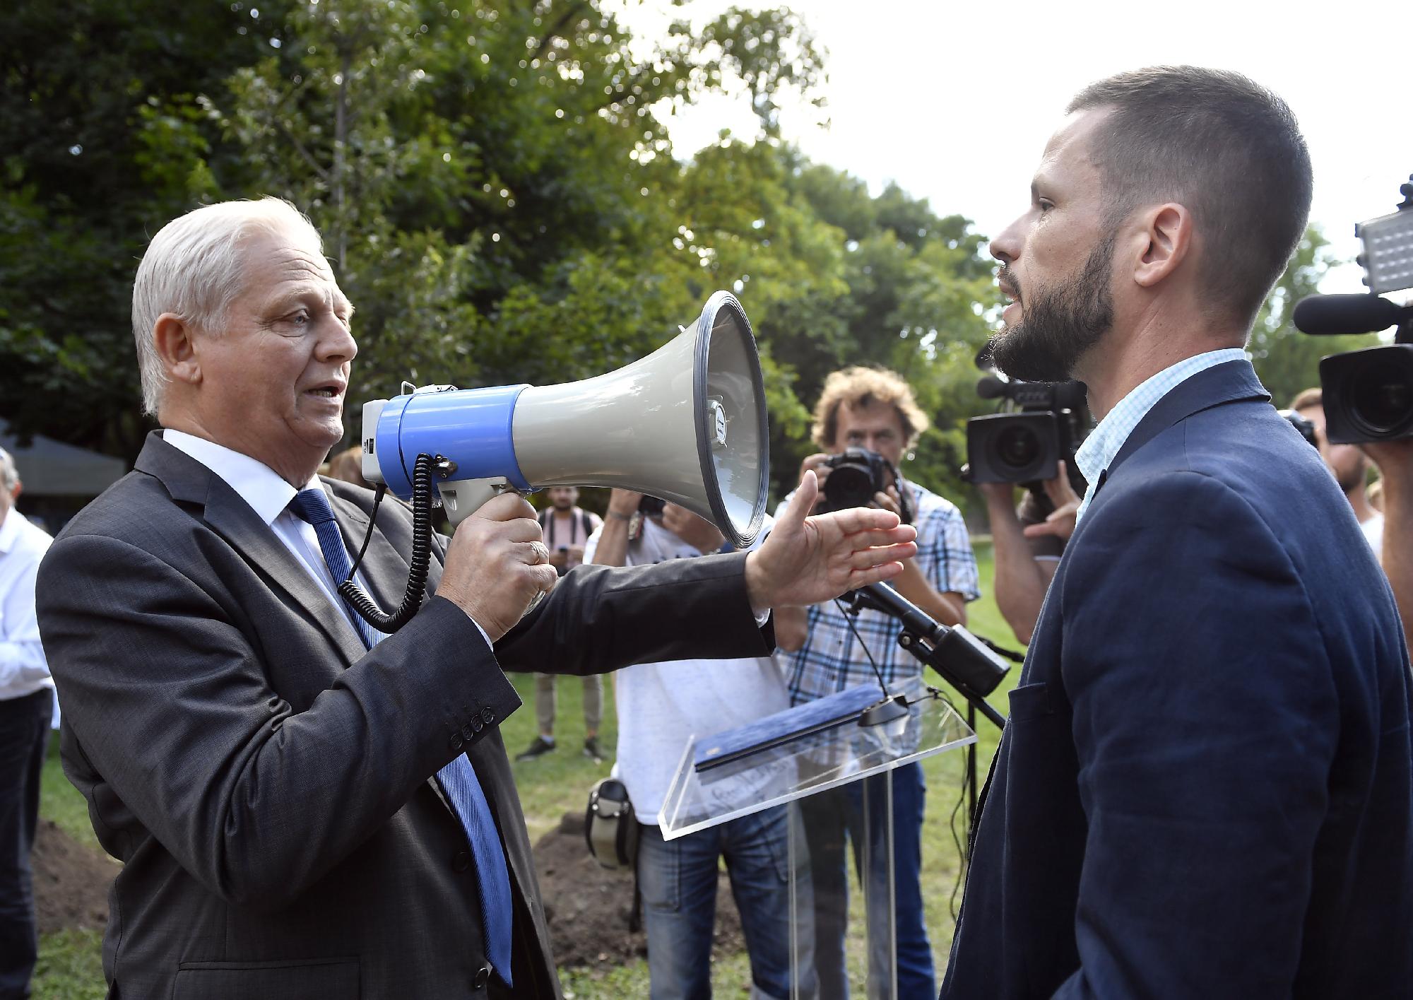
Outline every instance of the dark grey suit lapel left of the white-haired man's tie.
[(226, 480), (168, 445), (157, 432), (148, 436), (136, 468), (160, 479), (172, 500), (201, 506), (206, 524), (319, 626), (343, 657), (345, 665), (363, 657), (367, 650), (343, 610), (329, 602), (270, 525), (256, 516)]

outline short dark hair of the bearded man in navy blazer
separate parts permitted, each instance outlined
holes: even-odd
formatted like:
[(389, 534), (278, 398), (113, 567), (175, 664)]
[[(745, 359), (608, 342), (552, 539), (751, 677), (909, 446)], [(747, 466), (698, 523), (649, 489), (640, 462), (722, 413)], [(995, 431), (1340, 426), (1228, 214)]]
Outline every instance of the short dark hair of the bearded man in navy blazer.
[(1091, 83), (1067, 112), (1112, 107), (1094, 140), (1105, 215), (1193, 213), (1212, 305), (1251, 325), (1306, 230), (1310, 153), (1290, 107), (1241, 73), (1153, 66)]

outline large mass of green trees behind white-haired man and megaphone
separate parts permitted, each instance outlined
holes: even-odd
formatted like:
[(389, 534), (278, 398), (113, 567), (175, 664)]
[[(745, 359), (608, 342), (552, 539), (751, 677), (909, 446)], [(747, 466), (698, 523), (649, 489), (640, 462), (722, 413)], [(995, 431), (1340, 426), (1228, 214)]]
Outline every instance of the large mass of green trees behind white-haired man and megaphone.
[[(995, 299), (982, 237), (779, 141), (783, 92), (822, 106), (790, 10), (647, 45), (589, 0), (64, 0), (7, 18), (34, 54), (0, 92), (20, 138), (0, 192), (0, 415), (21, 432), (131, 456), (133, 263), (175, 215), (271, 194), (309, 213), (359, 305), (353, 398), (596, 374), (732, 288), (760, 340), (777, 490), (811, 449), (824, 376), (856, 362), (914, 381), (938, 415), (914, 475), (959, 489), (978, 304)], [(42, 44), (65, 31), (100, 55)], [(757, 134), (674, 160), (663, 119), (714, 92), (749, 95)]]

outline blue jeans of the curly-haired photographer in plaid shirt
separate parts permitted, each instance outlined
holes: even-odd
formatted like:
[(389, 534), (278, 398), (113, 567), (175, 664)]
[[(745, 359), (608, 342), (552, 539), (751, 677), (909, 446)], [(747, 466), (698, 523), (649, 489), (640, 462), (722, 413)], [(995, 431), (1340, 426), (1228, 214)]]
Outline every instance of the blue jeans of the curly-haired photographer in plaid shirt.
[(845, 839), (853, 845), (859, 880), (869, 887), (869, 996), (890, 996), (893, 956), (887, 949), (886, 850), (872, 850), (863, 871), (863, 842), (882, 845), (887, 816), (887, 782), (893, 781), (893, 925), (897, 935), (899, 1000), (935, 1000), (937, 975), (933, 944), (923, 918), (923, 805), (927, 785), (923, 766), (904, 764), (885, 774), (855, 781), (800, 801), (800, 818), (810, 847), (814, 886), (815, 970), (821, 1000), (845, 1000), (849, 979), (844, 960), (848, 929), (848, 863)]

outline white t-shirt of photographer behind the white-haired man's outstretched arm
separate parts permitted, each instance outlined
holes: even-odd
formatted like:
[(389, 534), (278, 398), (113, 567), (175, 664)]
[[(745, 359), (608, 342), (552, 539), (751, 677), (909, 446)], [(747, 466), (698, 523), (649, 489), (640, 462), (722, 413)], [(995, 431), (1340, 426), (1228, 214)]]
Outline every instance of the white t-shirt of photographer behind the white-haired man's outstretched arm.
[[(770, 527), (762, 525), (756, 545)], [(592, 562), (602, 528), (589, 537)], [(626, 564), (646, 566), (698, 556), (698, 551), (644, 518), (629, 542)], [(711, 736), (790, 708), (784, 678), (770, 657), (674, 660), (637, 664), (613, 674), (617, 706), (617, 761), (613, 774), (627, 787), (639, 822), (660, 825), (663, 799), (692, 737)]]

